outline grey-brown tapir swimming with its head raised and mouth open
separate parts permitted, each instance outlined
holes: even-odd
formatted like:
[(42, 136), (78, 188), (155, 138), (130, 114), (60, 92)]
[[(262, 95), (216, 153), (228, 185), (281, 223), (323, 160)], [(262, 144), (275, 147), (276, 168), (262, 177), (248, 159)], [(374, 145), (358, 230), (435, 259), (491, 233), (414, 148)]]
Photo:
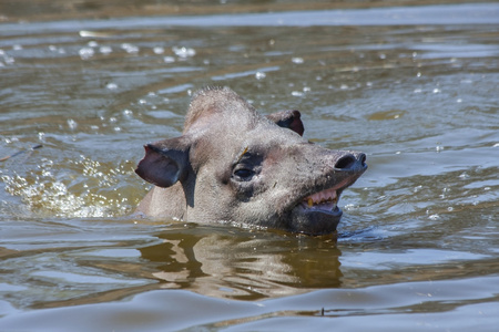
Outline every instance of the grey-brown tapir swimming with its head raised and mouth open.
[(135, 173), (154, 187), (136, 212), (333, 234), (339, 196), (366, 170), (366, 155), (303, 133), (298, 111), (263, 116), (228, 87), (197, 91), (182, 136), (144, 146)]

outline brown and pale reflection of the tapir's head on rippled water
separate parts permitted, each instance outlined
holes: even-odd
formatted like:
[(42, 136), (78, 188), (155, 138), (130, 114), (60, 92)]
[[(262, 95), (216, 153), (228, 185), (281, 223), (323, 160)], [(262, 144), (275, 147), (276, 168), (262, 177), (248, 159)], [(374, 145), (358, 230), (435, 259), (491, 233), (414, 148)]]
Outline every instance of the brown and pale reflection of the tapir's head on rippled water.
[(163, 288), (258, 300), (340, 284), (340, 251), (332, 239), (204, 231), (194, 237), (165, 232), (161, 245), (140, 249), (143, 258), (159, 263), (153, 276)]

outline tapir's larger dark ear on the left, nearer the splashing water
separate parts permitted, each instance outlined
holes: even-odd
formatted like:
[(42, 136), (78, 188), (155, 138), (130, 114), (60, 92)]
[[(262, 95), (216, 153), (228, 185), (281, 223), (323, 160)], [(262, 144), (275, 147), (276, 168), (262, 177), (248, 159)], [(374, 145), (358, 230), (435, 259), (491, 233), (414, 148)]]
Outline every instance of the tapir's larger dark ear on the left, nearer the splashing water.
[(135, 173), (159, 187), (170, 187), (182, 181), (189, 169), (191, 144), (185, 136), (144, 145), (145, 156)]

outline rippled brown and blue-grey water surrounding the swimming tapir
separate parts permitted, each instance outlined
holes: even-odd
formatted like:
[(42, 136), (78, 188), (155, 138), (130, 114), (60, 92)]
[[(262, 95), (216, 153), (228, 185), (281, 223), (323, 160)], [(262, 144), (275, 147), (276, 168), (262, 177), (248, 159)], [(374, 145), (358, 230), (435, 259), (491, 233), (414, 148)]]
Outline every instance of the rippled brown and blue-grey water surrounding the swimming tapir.
[[(496, 331), (499, 6), (302, 2), (1, 1), (1, 331)], [(367, 154), (337, 242), (129, 217), (205, 85)]]

